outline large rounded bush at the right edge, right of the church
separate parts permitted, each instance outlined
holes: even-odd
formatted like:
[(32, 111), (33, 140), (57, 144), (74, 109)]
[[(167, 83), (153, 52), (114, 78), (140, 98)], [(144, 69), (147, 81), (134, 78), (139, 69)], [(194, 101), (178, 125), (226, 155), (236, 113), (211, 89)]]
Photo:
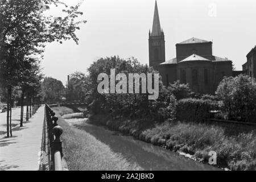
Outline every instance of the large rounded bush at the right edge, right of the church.
[(222, 113), (228, 119), (255, 122), (256, 82), (254, 78), (239, 75), (226, 77), (220, 82), (216, 94), (223, 101)]

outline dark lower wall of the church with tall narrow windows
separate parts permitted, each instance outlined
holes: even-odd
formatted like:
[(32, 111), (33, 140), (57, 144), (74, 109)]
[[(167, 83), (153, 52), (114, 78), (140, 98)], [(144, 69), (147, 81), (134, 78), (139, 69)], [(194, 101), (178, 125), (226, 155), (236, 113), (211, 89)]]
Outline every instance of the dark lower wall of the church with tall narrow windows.
[[(193, 84), (193, 71), (197, 71), (197, 84)], [(218, 84), (224, 76), (232, 76), (232, 61), (187, 61), (178, 64), (159, 65), (159, 73), (164, 85), (167, 81), (173, 84), (181, 78), (181, 71), (185, 71), (185, 83), (189, 84), (191, 90), (196, 93), (214, 94)], [(207, 72), (207, 81), (205, 81)]]

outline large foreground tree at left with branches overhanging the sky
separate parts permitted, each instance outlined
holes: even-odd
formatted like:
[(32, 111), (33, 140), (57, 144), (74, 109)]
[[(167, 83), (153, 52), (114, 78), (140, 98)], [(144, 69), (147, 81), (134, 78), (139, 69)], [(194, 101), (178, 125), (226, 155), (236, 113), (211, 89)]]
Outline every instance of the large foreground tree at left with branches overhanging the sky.
[[(47, 16), (51, 5), (64, 5), (64, 17)], [(40, 54), (46, 43), (73, 39), (79, 30), (79, 5), (68, 7), (57, 0), (0, 1), (0, 86), (7, 92), (7, 137), (11, 122), (12, 89), (19, 85), (22, 62), (27, 56)], [(10, 110), (10, 115), (9, 115)], [(11, 125), (10, 125), (11, 126)], [(11, 131), (11, 130), (10, 130)], [(11, 135), (11, 133), (10, 133)]]

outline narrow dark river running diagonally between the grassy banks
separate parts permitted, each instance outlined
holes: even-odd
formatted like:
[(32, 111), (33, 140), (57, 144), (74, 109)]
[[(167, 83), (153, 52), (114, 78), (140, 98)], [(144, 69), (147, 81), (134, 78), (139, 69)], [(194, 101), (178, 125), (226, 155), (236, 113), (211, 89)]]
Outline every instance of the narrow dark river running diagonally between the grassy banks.
[(102, 126), (91, 125), (86, 118), (65, 118), (71, 126), (77, 127), (93, 135), (102, 143), (122, 154), (130, 162), (135, 162), (145, 170), (192, 170), (217, 171), (219, 168), (185, 158), (162, 147), (142, 142), (134, 137), (110, 131)]

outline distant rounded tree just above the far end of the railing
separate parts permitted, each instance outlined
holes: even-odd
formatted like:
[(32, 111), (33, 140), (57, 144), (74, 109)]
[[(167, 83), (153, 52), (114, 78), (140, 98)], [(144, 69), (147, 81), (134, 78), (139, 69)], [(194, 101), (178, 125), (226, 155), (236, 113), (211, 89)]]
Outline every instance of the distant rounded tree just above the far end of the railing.
[(61, 98), (64, 97), (64, 91), (65, 88), (62, 82), (55, 78), (46, 77), (41, 84), (42, 98), (47, 104), (61, 102)]

